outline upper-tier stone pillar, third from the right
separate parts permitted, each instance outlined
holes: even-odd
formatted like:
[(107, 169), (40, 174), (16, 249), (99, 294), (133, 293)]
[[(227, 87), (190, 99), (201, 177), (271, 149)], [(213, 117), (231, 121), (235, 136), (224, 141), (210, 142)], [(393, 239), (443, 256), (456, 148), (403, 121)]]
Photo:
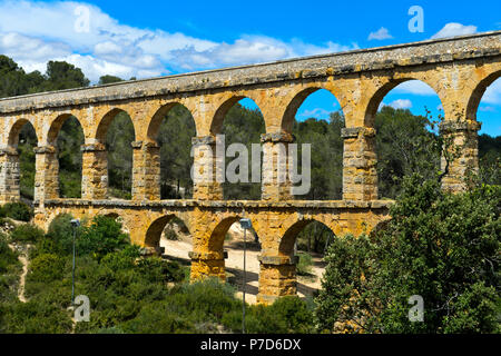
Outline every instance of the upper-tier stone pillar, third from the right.
[(289, 144), (295, 138), (287, 132), (262, 135), (263, 167), (262, 167), (262, 199), (266, 201), (292, 200), (292, 181), (288, 174)]

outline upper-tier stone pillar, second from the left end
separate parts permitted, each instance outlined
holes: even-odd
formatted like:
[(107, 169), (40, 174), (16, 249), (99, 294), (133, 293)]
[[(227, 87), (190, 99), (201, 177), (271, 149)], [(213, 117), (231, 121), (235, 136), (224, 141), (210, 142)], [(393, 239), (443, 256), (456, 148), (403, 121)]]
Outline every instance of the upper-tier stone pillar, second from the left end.
[(35, 201), (59, 199), (59, 160), (53, 146), (36, 147)]

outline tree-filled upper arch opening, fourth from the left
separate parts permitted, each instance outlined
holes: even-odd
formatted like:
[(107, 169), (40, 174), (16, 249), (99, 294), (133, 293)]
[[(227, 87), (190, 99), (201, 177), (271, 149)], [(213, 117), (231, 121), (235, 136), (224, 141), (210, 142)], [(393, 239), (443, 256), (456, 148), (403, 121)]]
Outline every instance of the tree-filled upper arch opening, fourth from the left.
[(190, 199), (191, 139), (196, 137), (191, 112), (180, 103), (168, 103), (151, 119), (148, 139), (160, 147), (161, 199)]

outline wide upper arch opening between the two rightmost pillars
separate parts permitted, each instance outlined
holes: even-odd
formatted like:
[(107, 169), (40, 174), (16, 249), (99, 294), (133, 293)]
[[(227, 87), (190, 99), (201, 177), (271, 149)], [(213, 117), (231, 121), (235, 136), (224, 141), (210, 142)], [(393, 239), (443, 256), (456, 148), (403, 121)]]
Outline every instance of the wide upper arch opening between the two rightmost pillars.
[(420, 80), (391, 81), (371, 98), (365, 126), (376, 132), (380, 198), (395, 199), (406, 176), (433, 177), (441, 169), (438, 123), (443, 119), (439, 95)]

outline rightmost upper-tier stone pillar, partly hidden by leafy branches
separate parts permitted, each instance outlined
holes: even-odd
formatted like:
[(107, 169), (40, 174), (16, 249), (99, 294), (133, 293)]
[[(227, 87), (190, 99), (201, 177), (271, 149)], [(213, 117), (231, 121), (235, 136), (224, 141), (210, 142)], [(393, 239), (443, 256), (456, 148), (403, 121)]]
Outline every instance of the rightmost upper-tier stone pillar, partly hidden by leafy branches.
[(446, 167), (445, 157), (442, 157), (442, 171), (449, 172), (442, 179), (445, 191), (460, 192), (468, 186), (468, 175), (479, 171), (479, 130), (482, 125), (475, 120), (443, 121), (440, 123), (440, 134), (444, 137), (449, 150), (459, 150), (459, 157)]

